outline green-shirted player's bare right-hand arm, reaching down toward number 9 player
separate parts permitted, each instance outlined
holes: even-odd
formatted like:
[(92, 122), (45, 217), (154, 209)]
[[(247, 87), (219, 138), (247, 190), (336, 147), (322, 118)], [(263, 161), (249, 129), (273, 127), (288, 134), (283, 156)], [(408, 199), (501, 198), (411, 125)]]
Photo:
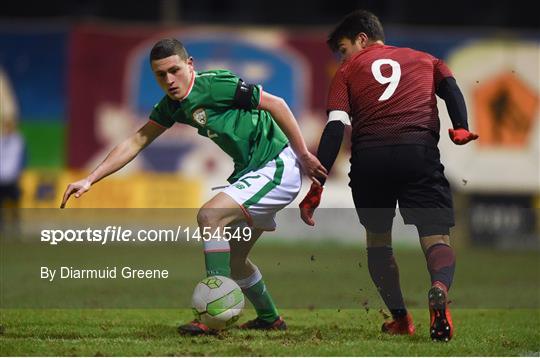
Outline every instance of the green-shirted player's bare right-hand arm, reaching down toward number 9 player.
[(326, 169), (307, 150), (304, 137), (302, 137), (302, 133), (300, 132), (300, 127), (298, 127), (294, 115), (283, 98), (262, 91), (259, 109), (266, 110), (272, 114), (276, 123), (289, 139), (291, 148), (298, 157), (304, 173), (316, 183), (318, 183), (317, 178), (326, 178)]

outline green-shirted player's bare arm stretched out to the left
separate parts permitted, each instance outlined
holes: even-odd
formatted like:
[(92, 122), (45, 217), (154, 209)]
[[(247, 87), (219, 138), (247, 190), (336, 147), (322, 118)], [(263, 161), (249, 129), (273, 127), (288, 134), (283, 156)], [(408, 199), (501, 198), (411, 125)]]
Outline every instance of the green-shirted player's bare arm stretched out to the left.
[(88, 177), (69, 184), (64, 191), (60, 208), (66, 206), (71, 195), (79, 198), (90, 190), (92, 184), (124, 167), (165, 130), (165, 127), (161, 127), (152, 121), (146, 123), (135, 134), (114, 147), (105, 160)]

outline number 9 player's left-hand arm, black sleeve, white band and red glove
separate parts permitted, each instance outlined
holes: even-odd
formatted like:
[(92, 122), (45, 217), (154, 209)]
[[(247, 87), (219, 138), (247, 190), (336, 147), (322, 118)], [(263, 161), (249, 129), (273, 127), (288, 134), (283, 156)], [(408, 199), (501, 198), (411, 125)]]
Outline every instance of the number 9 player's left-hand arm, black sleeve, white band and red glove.
[[(345, 124), (350, 125), (349, 115), (343, 111), (331, 111), (328, 116), (328, 123), (321, 135), (319, 142), (319, 148), (317, 149), (317, 158), (321, 161), (322, 165), (328, 172), (332, 169), (334, 162), (339, 154), (341, 148), (341, 142), (343, 141), (343, 132)], [(300, 217), (302, 220), (310, 225), (314, 226), (313, 214), (315, 209), (319, 207), (321, 202), (321, 196), (325, 183), (324, 178), (319, 178), (321, 185), (313, 183), (309, 192), (304, 199), (300, 202)]]

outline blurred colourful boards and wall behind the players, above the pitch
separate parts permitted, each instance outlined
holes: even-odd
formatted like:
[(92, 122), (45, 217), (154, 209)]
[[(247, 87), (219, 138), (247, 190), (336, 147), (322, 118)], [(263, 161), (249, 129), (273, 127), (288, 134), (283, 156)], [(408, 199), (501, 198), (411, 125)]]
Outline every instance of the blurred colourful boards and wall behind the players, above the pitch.
[[(184, 42), (197, 69), (229, 68), (284, 97), (315, 150), (337, 68), (326, 35), (357, 8), (379, 15), (387, 44), (447, 61), (464, 92), (478, 142), (452, 145), (446, 108), (439, 103), (439, 147), (455, 193), (457, 241), (538, 249), (540, 31), (531, 1), (6, 3), (0, 12), (1, 115), (17, 123), (26, 142), (21, 206), (58, 207), (67, 183), (85, 175), (146, 121), (162, 96), (148, 52), (165, 36)], [(353, 206), (348, 155), (346, 143), (324, 207)], [(213, 143), (176, 125), (70, 206), (196, 208), (213, 194), (211, 187), (224, 184), (231, 169)], [(300, 221), (289, 220), (276, 235), (301, 237), (295, 232)], [(416, 240), (414, 232), (397, 230)], [(355, 232), (356, 225), (349, 239)], [(346, 233), (341, 236), (347, 239)]]

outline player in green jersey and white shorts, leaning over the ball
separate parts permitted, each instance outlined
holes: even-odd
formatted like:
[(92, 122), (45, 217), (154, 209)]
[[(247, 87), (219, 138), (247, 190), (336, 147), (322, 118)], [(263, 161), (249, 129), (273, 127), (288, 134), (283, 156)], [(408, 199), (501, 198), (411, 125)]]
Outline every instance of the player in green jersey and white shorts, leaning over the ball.
[[(148, 123), (117, 145), (88, 177), (68, 185), (61, 207), (71, 195), (79, 198), (92, 184), (122, 168), (174, 123), (197, 128), (234, 161), (234, 172), (228, 179), (231, 185), (197, 214), (201, 232), (251, 227), (249, 240), (222, 240), (215, 235), (205, 241), (206, 273), (232, 277), (255, 307), (257, 318), (241, 327), (286, 329), (261, 272), (248, 254), (263, 231), (275, 229), (276, 212), (297, 196), (300, 169), (314, 181), (325, 178), (326, 169), (307, 150), (282, 98), (245, 83), (229, 71), (196, 72), (193, 59), (176, 39), (156, 43), (150, 63), (166, 95), (154, 107)], [(193, 321), (180, 326), (179, 332), (205, 334), (210, 330)]]

